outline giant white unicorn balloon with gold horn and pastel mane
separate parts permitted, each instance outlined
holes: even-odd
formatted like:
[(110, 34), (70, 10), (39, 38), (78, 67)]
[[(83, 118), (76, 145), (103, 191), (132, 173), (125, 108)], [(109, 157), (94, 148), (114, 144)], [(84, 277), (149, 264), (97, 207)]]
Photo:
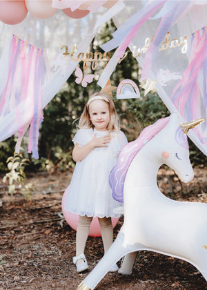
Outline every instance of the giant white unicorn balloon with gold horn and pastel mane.
[(146, 134), (141, 133), (121, 150), (111, 178), (117, 200), (121, 200), (119, 188), (124, 186), (124, 224), (115, 242), (77, 290), (94, 289), (121, 257), (139, 250), (186, 260), (207, 280), (207, 204), (170, 200), (157, 186), (161, 164), (174, 169), (183, 182), (193, 179), (184, 131), (199, 122), (179, 124), (177, 113), (173, 113), (147, 127)]

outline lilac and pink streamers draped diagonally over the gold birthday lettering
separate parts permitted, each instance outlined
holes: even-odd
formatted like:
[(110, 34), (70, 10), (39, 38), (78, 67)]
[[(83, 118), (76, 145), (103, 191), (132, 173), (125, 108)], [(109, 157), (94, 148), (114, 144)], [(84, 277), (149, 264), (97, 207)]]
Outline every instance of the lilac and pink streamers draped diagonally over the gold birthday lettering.
[[(107, 43), (104, 43), (101, 46), (101, 48), (106, 52), (119, 46), (119, 48), (115, 52), (115, 55), (117, 56), (117, 58), (123, 57), (126, 48), (135, 37), (137, 30), (139, 30), (141, 25), (163, 5), (164, 7), (157, 14), (157, 17), (154, 17), (155, 19), (161, 17), (161, 21), (159, 23), (159, 27), (157, 28), (155, 38), (152, 43), (150, 43), (150, 47), (146, 52), (141, 79), (147, 79), (149, 77), (152, 62), (157, 56), (161, 41), (163, 41), (170, 27), (172, 27), (172, 25), (176, 23), (179, 17), (184, 14), (184, 10), (186, 10), (186, 8), (190, 6), (190, 1), (148, 1), (148, 3), (146, 3), (146, 5), (141, 8), (141, 10), (139, 10), (135, 15), (130, 17), (130, 19), (128, 19), (126, 23), (120, 26), (113, 33), (113, 39), (111, 39)], [(111, 61), (111, 63), (108, 64), (111, 67), (110, 70), (108, 70), (107, 66), (105, 68), (106, 71), (104, 72), (103, 70), (104, 75), (106, 75), (107, 79), (110, 77), (112, 66), (115, 69), (117, 62), (118, 61), (115, 60)], [(100, 81), (99, 84), (103, 85), (103, 81)]]

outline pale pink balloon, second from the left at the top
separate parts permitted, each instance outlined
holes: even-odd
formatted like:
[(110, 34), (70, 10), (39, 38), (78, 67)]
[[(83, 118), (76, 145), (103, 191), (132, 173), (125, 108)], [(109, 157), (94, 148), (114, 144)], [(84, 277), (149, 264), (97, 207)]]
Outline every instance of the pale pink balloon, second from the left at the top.
[(52, 17), (57, 8), (52, 7), (52, 0), (26, 0), (28, 11), (37, 18), (46, 19)]

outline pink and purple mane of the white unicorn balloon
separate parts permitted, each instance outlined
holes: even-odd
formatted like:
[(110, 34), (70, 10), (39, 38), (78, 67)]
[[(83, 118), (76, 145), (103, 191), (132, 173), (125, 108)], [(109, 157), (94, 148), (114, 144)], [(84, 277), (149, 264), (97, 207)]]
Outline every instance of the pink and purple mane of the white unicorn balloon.
[(109, 176), (109, 184), (112, 189), (112, 197), (118, 202), (124, 203), (124, 180), (128, 167), (130, 166), (135, 155), (147, 142), (152, 139), (162, 128), (168, 123), (169, 117), (159, 119), (155, 124), (152, 124), (141, 132), (139, 137), (128, 144), (126, 144), (119, 153), (117, 164)]

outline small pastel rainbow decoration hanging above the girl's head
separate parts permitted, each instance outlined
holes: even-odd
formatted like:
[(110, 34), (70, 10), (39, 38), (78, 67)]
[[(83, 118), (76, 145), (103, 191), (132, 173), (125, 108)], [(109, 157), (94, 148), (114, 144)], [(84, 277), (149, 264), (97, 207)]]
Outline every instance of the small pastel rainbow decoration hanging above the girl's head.
[(135, 81), (124, 79), (117, 87), (117, 99), (132, 99), (140, 97), (139, 88)]

